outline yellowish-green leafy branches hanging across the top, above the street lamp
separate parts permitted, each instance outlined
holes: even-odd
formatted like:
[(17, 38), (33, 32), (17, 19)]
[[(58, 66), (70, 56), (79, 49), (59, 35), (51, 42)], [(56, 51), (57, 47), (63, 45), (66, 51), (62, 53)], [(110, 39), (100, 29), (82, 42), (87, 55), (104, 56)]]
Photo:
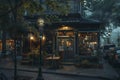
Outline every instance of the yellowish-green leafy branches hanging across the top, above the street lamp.
[[(0, 0), (0, 1), (3, 1), (3, 0)], [(8, 18), (9, 14), (12, 14), (12, 16), (15, 16), (15, 14), (17, 14), (16, 18), (19, 22), (21, 22), (21, 20), (23, 20), (23, 15), (25, 14), (25, 12), (27, 12), (27, 15), (49, 13), (47, 11), (58, 13), (58, 14), (68, 14), (69, 5), (67, 1), (69, 0), (66, 0), (66, 1), (45, 0), (42, 2), (39, 2), (39, 0), (6, 0), (4, 3), (5, 5), (3, 3), (2, 5), (0, 5), (0, 8), (2, 7), (4, 10), (4, 11), (0, 11), (0, 19), (2, 21), (2, 18), (1, 18), (2, 15), (5, 15), (5, 16), (7, 15), (7, 18)], [(15, 10), (17, 11), (17, 13), (15, 13)], [(56, 15), (53, 15), (53, 16), (47, 15), (45, 16), (45, 18), (48, 22), (50, 22), (50, 20), (52, 19), (55, 19), (55, 20), (58, 19)]]

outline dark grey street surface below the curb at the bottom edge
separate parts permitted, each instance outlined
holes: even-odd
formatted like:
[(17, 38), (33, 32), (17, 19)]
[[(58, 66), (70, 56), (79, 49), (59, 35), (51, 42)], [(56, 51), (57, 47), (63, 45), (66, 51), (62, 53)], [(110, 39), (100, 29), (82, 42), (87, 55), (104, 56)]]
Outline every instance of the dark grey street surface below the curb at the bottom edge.
[[(3, 72), (8, 80), (13, 80), (13, 70), (0, 70)], [(18, 80), (36, 80), (37, 73), (36, 72), (25, 72), (25, 71), (18, 71)], [(44, 80), (104, 80), (99, 78), (93, 77), (84, 77), (84, 76), (69, 76), (69, 75), (59, 75), (59, 74), (43, 74)]]

